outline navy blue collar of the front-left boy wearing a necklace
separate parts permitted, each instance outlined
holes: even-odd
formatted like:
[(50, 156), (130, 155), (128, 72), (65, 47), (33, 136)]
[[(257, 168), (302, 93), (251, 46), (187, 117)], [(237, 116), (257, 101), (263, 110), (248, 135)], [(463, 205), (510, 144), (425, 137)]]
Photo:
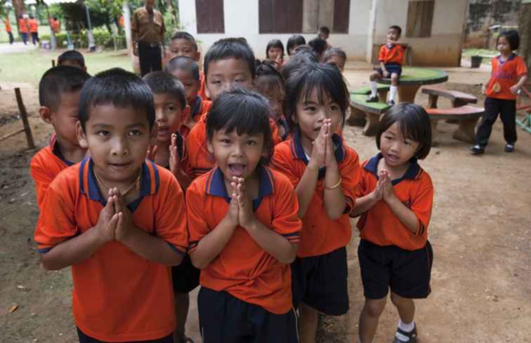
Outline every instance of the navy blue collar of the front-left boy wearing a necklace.
[[(147, 163), (150, 163), (149, 166)], [(127, 204), (127, 208), (133, 213), (136, 208), (140, 205), (140, 201), (144, 196), (157, 193), (160, 185), (159, 170), (157, 165), (151, 161), (144, 161), (142, 163), (142, 175), (140, 176), (140, 194), (138, 198)], [(89, 199), (93, 201), (99, 201), (103, 206), (107, 204), (107, 198), (103, 198), (100, 194), (100, 189), (98, 188), (98, 183), (96, 181), (96, 176), (94, 175), (94, 162), (90, 157), (86, 157), (81, 161), (81, 166), (79, 167), (79, 191), (81, 194), (86, 194), (89, 196)]]

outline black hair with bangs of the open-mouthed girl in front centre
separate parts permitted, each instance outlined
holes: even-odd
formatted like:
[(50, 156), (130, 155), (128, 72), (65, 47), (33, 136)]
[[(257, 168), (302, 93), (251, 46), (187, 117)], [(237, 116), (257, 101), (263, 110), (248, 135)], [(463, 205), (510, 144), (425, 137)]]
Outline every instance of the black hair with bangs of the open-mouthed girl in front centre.
[(225, 130), (237, 135), (263, 133), (263, 145), (273, 153), (273, 137), (269, 126), (269, 102), (254, 90), (242, 87), (223, 92), (212, 105), (206, 119), (206, 137), (212, 140), (214, 132)]

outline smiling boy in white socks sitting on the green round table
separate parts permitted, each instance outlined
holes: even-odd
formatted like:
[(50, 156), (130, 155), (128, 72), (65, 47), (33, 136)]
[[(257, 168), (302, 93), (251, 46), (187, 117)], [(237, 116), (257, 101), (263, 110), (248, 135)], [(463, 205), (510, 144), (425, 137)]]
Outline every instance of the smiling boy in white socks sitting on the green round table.
[(382, 77), (391, 78), (391, 89), (387, 105), (395, 105), (395, 96), (398, 93), (398, 79), (402, 74), (402, 59), (404, 58), (404, 48), (398, 43), (402, 34), (402, 29), (398, 25), (389, 27), (387, 31), (386, 45), (380, 48), (378, 60), (380, 67), (370, 76), (371, 94), (367, 97), (367, 102), (379, 102), (376, 79)]

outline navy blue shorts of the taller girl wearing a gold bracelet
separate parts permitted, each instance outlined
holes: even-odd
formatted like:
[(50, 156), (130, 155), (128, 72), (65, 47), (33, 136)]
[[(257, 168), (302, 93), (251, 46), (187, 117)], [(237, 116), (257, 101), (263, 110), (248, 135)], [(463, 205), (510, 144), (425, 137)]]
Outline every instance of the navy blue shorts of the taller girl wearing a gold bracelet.
[(295, 307), (301, 302), (328, 314), (348, 312), (346, 248), (325, 255), (297, 257), (291, 264), (291, 291)]

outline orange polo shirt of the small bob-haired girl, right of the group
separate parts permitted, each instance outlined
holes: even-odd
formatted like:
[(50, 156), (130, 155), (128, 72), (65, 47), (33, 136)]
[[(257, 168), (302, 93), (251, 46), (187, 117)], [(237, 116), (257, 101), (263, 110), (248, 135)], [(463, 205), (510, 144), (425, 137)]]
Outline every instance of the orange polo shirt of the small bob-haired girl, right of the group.
[[(356, 196), (366, 196), (376, 188), (378, 162), (381, 154), (362, 163), (360, 184)], [(398, 246), (405, 250), (418, 250), (426, 246), (428, 223), (433, 205), (431, 177), (417, 161), (413, 161), (401, 179), (393, 180), (393, 191), (402, 203), (419, 218), (417, 234), (407, 229), (383, 200), (363, 213), (358, 221), (360, 237), (378, 246)]]

